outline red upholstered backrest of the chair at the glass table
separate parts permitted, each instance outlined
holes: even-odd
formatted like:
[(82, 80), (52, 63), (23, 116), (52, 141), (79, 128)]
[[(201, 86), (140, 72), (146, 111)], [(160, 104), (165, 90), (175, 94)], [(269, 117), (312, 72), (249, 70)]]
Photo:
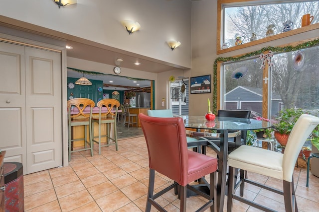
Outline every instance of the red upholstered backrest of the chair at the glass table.
[(182, 118), (139, 114), (149, 152), (150, 168), (180, 185), (187, 184), (188, 153)]

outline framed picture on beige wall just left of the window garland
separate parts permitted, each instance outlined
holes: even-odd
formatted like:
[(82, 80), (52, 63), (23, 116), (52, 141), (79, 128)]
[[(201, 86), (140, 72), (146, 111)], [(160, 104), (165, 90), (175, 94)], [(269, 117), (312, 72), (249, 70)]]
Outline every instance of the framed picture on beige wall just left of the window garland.
[(190, 77), (190, 93), (210, 93), (211, 80), (210, 75)]

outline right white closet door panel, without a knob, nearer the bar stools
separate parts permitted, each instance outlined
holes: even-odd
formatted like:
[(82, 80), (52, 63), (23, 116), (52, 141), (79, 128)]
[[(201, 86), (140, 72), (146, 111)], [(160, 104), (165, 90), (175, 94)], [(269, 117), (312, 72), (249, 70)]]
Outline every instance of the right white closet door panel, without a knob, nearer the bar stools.
[(25, 47), (27, 172), (62, 165), (61, 54)]

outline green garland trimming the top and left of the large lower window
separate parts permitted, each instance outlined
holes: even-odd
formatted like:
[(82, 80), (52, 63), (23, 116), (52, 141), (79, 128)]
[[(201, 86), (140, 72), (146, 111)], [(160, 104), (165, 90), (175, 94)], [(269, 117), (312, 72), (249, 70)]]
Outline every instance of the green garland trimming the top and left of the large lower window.
[[(247, 53), (245, 55), (241, 55), (238, 57), (227, 57), (227, 58), (216, 58), (215, 62), (214, 62), (214, 71), (213, 71), (213, 102), (212, 102), (212, 112), (213, 113), (217, 113), (217, 63), (218, 62), (228, 62), (228, 61), (240, 61), (249, 57), (253, 57), (256, 55), (260, 55), (261, 53), (264, 53), (266, 51), (273, 51), (274, 53), (283, 53), (283, 52), (292, 52), (292, 51), (298, 51), (300, 49), (305, 49), (305, 48), (309, 48), (309, 47), (313, 47), (319, 44), (319, 39), (315, 39), (312, 41), (308, 41), (302, 44), (299, 44), (297, 46), (285, 46), (285, 47), (264, 47), (260, 50), (257, 50), (255, 52), (250, 52)], [(215, 98), (214, 98), (215, 96)]]

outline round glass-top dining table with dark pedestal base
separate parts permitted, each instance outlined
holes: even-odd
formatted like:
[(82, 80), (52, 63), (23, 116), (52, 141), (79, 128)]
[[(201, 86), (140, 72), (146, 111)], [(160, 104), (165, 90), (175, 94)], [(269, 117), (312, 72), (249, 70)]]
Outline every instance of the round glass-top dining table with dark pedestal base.
[[(272, 127), (270, 122), (259, 121), (255, 119), (242, 119), (233, 117), (216, 117), (214, 121), (206, 121), (204, 116), (179, 116), (183, 118), (185, 128), (202, 130), (208, 132), (217, 130), (220, 132), (220, 146), (213, 148), (219, 156), (218, 161), (218, 180), (217, 180), (217, 211), (223, 212), (225, 191), (226, 191), (226, 176), (227, 176), (227, 156), (228, 156), (228, 134), (233, 131), (246, 131), (266, 129)], [(208, 144), (209, 146), (209, 144)], [(213, 147), (213, 146), (212, 146)]]

